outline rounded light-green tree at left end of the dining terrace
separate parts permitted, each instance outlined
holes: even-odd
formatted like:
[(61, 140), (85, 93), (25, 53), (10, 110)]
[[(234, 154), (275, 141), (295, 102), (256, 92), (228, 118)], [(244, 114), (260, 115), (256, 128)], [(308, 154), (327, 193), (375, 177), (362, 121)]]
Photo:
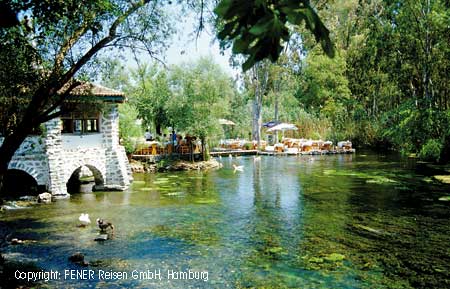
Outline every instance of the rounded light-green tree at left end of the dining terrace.
[(228, 113), (233, 82), (211, 59), (200, 58), (195, 63), (173, 67), (170, 87), (167, 115), (177, 131), (200, 138), (205, 158), (208, 138), (221, 134), (219, 118)]

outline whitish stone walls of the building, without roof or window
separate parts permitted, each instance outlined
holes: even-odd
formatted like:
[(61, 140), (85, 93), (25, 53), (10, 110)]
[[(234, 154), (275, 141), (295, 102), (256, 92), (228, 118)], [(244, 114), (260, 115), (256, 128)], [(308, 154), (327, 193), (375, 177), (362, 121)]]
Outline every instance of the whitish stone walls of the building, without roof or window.
[[(101, 138), (93, 146), (64, 148), (59, 118), (45, 123), (45, 137), (28, 137), (9, 164), (9, 169), (27, 172), (45, 185), (54, 196), (68, 196), (66, 184), (72, 174), (86, 165), (96, 185), (126, 189), (133, 180), (125, 149), (119, 145), (119, 113), (117, 104), (105, 105), (100, 121)], [(3, 139), (0, 138), (0, 144)]]

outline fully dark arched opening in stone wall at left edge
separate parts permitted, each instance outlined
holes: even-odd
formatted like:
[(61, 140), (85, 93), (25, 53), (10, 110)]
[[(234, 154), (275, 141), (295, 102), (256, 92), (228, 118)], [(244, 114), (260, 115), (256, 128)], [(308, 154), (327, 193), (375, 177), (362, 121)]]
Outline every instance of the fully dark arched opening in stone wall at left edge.
[(42, 190), (37, 181), (22, 170), (10, 169), (3, 180), (3, 191), (9, 196), (37, 195)]

